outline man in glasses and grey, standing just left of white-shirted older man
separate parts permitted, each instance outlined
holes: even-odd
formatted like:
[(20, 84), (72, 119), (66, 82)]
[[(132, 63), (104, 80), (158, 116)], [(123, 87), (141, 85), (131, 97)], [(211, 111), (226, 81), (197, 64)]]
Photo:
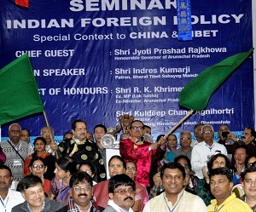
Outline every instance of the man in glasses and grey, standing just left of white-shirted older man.
[(179, 135), (179, 141), (181, 148), (175, 150), (173, 153), (175, 158), (180, 155), (185, 155), (191, 160), (191, 152), (192, 147), (191, 145), (192, 135), (189, 131), (183, 131)]

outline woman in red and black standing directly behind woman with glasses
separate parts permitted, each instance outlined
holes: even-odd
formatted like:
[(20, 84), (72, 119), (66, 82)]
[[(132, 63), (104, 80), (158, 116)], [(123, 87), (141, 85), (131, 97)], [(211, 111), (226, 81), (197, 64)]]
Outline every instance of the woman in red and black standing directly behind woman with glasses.
[(29, 164), (32, 159), (36, 157), (44, 158), (45, 164), (47, 166), (47, 172), (44, 173), (44, 178), (48, 180), (52, 180), (55, 176), (55, 158), (49, 153), (45, 152), (46, 140), (43, 137), (37, 137), (34, 140), (34, 149), (35, 152), (30, 154), (24, 162), (24, 176), (31, 174), (31, 169), (29, 169)]

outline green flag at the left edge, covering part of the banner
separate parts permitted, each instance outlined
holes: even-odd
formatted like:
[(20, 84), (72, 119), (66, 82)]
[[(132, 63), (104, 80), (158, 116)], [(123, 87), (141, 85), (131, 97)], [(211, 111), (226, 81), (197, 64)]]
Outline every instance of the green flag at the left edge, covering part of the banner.
[(44, 111), (27, 54), (0, 70), (0, 84), (0, 124)]

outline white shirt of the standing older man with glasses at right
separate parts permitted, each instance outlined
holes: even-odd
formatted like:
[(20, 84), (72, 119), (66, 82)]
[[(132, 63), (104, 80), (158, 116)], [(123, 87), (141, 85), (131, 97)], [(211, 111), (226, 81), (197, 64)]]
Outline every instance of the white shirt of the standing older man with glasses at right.
[(207, 166), (207, 161), (209, 158), (211, 158), (212, 155), (216, 155), (218, 153), (222, 153), (225, 156), (228, 154), (224, 145), (214, 141), (212, 146), (208, 146), (205, 141), (202, 141), (193, 147), (191, 154), (191, 164), (192, 169), (195, 171), (195, 175), (198, 178), (204, 178), (201, 169), (204, 166)]

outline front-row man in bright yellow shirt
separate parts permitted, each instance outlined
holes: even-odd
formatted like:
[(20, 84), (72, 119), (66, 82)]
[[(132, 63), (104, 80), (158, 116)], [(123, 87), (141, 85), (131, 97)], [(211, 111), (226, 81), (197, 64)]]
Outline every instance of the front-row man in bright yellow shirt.
[(208, 205), (208, 212), (252, 211), (247, 203), (236, 198), (236, 194), (231, 192), (234, 184), (232, 182), (233, 176), (230, 169), (226, 167), (212, 169), (209, 173), (209, 177), (211, 192), (216, 199), (212, 199), (211, 204)]

